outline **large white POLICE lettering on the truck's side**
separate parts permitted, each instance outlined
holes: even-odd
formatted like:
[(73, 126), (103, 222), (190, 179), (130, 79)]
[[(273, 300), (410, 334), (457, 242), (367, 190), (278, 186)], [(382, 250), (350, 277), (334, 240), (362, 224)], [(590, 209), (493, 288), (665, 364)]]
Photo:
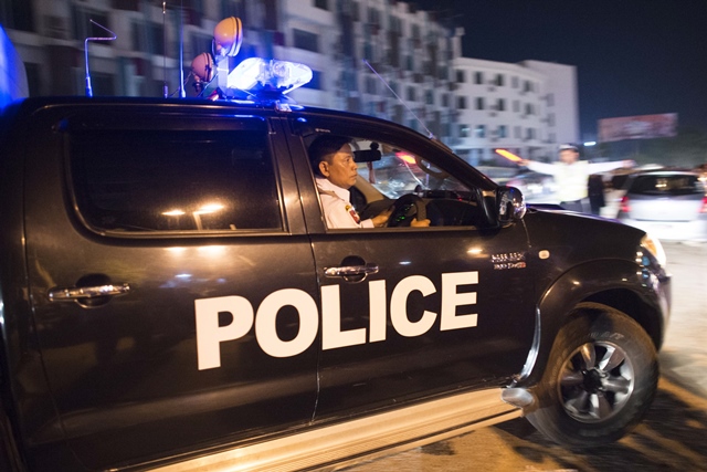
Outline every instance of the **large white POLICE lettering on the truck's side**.
[[(477, 314), (457, 314), (458, 306), (476, 304), (476, 292), (462, 292), (462, 285), (478, 284), (478, 272), (442, 274), (440, 331), (476, 326)], [(369, 282), (369, 326), (341, 331), (340, 285), (321, 287), (321, 348), (337, 349), (386, 340), (387, 300), (386, 281)], [(390, 323), (401, 336), (422, 336), (434, 326), (437, 313), (424, 311), (420, 319), (411, 322), (407, 305), (411, 293), (429, 296), (436, 287), (428, 277), (411, 275), (394, 286), (390, 296)], [(295, 308), (299, 316), (299, 331), (289, 340), (277, 336), (277, 314), (285, 306)], [(221, 367), (221, 343), (239, 339), (255, 327), (255, 339), (261, 349), (273, 357), (292, 357), (305, 352), (317, 337), (319, 312), (315, 300), (298, 289), (283, 289), (267, 295), (257, 312), (243, 296), (219, 296), (194, 301), (197, 319), (197, 356), (199, 370)], [(219, 325), (219, 313), (233, 317), (228, 325)]]

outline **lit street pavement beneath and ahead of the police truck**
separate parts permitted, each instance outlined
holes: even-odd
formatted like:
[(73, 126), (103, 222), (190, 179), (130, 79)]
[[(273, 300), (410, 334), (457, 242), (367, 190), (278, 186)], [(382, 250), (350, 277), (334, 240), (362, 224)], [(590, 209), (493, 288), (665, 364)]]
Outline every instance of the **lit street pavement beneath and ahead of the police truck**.
[(707, 471), (707, 244), (664, 248), (673, 314), (659, 389), (631, 434), (600, 449), (568, 450), (520, 418), (346, 471)]

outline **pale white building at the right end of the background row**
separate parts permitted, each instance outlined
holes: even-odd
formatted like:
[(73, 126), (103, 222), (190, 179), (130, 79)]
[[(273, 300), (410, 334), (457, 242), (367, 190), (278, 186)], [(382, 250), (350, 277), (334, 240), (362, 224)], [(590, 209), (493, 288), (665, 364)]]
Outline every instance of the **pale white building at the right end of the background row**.
[(527, 159), (550, 158), (558, 143), (576, 141), (576, 67), (457, 57), (456, 138), (472, 164), (495, 160), (503, 148)]

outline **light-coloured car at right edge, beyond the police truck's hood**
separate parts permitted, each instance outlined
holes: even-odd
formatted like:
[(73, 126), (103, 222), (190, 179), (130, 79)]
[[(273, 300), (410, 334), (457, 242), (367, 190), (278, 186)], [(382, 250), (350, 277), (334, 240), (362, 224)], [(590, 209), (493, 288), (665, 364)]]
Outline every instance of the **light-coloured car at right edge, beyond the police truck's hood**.
[(700, 175), (653, 170), (632, 175), (616, 218), (662, 240), (707, 241), (707, 196)]

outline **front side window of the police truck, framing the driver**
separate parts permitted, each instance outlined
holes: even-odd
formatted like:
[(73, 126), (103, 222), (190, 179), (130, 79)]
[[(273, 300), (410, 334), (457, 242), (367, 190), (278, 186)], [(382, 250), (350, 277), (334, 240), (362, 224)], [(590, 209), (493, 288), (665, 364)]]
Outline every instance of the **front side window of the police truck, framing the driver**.
[[(347, 164), (337, 176), (335, 164), (329, 165), (328, 183), (317, 182), (323, 212), (329, 229), (352, 228), (337, 225), (334, 219), (334, 202), (348, 196), (347, 211), (354, 211), (360, 219), (360, 228), (380, 227), (473, 227), (478, 225), (482, 214), (477, 210), (477, 192), (453, 177), (443, 166), (432, 164), (424, 150), (411, 150), (410, 143), (400, 145), (388, 139), (378, 139), (372, 135), (338, 135), (323, 138), (344, 139), (331, 147), (350, 147), (354, 157), (352, 168)], [(309, 145), (310, 155), (316, 144)], [(348, 149), (348, 148), (347, 148)], [(316, 154), (316, 151), (314, 153)], [(346, 153), (340, 153), (344, 156)], [(439, 155), (437, 155), (439, 156)], [(335, 162), (333, 160), (333, 162)], [(349, 169), (349, 170), (347, 170)], [(345, 171), (346, 170), (346, 171)], [(354, 172), (351, 170), (355, 170)], [(358, 175), (352, 182), (350, 176)], [(346, 177), (345, 180), (340, 177)], [(337, 183), (342, 182), (344, 186)], [(344, 187), (348, 192), (338, 192), (334, 185)], [(335, 193), (326, 199), (328, 193)], [(337, 213), (338, 214), (338, 213)], [(388, 214), (384, 222), (380, 217)], [(341, 220), (345, 220), (345, 214)], [(421, 217), (421, 218), (420, 218)], [(337, 221), (338, 217), (337, 217)], [(366, 222), (370, 224), (366, 225)]]

